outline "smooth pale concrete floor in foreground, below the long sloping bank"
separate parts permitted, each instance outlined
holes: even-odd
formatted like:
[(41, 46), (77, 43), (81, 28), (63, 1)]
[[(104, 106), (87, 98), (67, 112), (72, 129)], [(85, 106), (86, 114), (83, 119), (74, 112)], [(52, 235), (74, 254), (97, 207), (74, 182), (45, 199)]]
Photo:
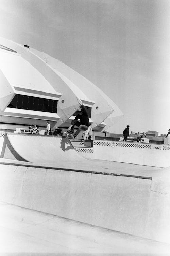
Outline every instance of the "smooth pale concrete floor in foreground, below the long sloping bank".
[(0, 202), (0, 255), (169, 255), (170, 245)]

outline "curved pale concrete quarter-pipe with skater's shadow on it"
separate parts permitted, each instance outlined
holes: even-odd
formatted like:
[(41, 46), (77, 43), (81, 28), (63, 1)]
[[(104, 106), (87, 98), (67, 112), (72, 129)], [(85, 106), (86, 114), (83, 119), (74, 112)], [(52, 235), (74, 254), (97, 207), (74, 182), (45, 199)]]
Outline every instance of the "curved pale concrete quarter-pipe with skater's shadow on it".
[(68, 138), (31, 134), (5, 133), (0, 157), (41, 164), (88, 162), (75, 151)]

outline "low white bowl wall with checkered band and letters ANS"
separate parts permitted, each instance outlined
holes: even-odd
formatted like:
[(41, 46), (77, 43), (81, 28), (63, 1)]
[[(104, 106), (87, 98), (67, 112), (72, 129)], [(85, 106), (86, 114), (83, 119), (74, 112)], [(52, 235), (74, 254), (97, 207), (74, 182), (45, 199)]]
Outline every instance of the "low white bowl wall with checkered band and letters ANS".
[(75, 147), (83, 157), (137, 165), (170, 166), (170, 146), (137, 142), (95, 140), (93, 148)]

